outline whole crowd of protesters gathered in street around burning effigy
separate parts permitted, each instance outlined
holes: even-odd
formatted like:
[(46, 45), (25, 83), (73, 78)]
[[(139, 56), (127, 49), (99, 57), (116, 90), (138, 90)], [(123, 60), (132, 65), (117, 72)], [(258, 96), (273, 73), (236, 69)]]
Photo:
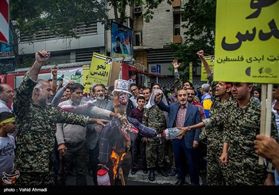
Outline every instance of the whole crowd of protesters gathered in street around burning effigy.
[[(132, 74), (128, 88), (119, 91), (96, 84), (84, 97), (81, 84), (68, 81), (63, 86), (60, 78), (56, 86), (56, 69), (51, 81), (38, 80), (50, 52), (37, 52), (14, 98), (12, 88), (0, 84), (0, 164), (5, 164), (0, 184), (66, 185), (74, 169), (77, 185), (87, 185), (86, 173), (98, 185), (98, 169), (108, 167), (112, 185), (126, 184), (128, 174), (140, 169), (150, 181), (156, 180), (156, 173), (177, 175), (174, 185), (186, 185), (188, 174), (188, 185), (199, 185), (201, 173), (206, 173), (207, 185), (279, 185), (278, 85), (273, 85), (271, 137), (258, 135), (265, 102), (261, 89), (250, 83), (213, 81), (204, 52), (197, 56), (209, 84), (196, 90), (190, 81), (181, 81), (175, 59), (175, 85), (170, 88), (138, 85)], [(7, 106), (12, 98), (15, 118)], [(164, 130), (172, 127), (180, 132), (166, 140)], [(125, 147), (112, 145), (119, 136)], [(113, 152), (123, 157), (117, 166), (123, 168), (124, 180), (116, 178), (121, 173), (116, 161), (110, 161)], [(264, 165), (258, 163), (258, 155), (266, 157)]]

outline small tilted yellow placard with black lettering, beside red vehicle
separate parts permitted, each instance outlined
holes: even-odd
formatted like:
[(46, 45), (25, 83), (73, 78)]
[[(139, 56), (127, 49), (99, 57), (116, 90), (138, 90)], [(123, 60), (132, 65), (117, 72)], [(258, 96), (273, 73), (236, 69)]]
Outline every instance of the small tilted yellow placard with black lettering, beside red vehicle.
[(110, 57), (93, 52), (87, 82), (91, 86), (93, 84), (104, 84), (107, 86), (111, 68), (112, 59)]

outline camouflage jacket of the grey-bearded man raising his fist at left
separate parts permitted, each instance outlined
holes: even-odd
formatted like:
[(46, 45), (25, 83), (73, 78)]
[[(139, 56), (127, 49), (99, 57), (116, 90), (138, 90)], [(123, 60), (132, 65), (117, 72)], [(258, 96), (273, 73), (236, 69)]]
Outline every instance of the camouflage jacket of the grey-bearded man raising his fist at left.
[(85, 126), (89, 118), (62, 111), (54, 105), (40, 107), (32, 100), (36, 84), (27, 72), (13, 104), (18, 128), (15, 170), (24, 172), (52, 171), (56, 123)]

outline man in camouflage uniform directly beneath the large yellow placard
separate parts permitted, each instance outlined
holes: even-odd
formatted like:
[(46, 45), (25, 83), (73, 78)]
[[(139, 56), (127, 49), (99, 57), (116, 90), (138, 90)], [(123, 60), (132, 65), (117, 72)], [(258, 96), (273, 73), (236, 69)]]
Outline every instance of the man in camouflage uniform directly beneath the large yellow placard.
[[(223, 113), (203, 120), (205, 127), (224, 125), (220, 160), (227, 165), (226, 185), (263, 185), (266, 180), (266, 169), (259, 165), (253, 148), (253, 141), (259, 134), (261, 105), (252, 98), (251, 91), (252, 84), (232, 83), (232, 95), (236, 101), (223, 108)], [(197, 127), (201, 125), (180, 128), (179, 135)], [(271, 137), (278, 137), (274, 116)]]

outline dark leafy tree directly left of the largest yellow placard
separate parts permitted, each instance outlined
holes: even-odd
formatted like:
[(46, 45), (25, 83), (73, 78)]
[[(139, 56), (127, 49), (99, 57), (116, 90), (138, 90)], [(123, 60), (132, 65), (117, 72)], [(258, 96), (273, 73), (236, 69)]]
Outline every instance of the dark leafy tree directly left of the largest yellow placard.
[[(187, 18), (183, 28), (185, 42), (181, 45), (170, 43), (176, 51), (175, 57), (181, 61), (179, 70), (188, 69), (188, 64), (199, 65), (197, 51), (203, 49), (206, 54), (214, 54), (215, 26), (216, 26), (216, 0), (191, 0), (184, 5), (183, 17)], [(188, 74), (181, 74), (183, 80), (188, 79)]]

